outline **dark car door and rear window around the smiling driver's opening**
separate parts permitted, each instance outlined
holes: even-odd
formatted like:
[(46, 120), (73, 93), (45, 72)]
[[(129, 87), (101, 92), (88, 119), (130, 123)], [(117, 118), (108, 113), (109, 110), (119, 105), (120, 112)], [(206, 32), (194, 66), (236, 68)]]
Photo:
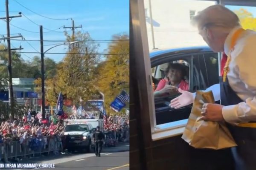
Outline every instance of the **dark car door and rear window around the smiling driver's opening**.
[[(151, 59), (151, 66), (154, 71), (160, 64), (177, 60), (189, 62), (189, 91), (205, 90), (218, 83), (218, 54), (206, 51), (194, 54), (183, 54), (179, 56), (161, 56), (160, 59)], [(152, 69), (153, 70), (153, 69)], [(159, 70), (159, 69), (158, 69)], [(152, 73), (154, 79), (155, 73)], [(180, 94), (166, 97), (154, 98), (156, 123), (157, 125), (187, 119), (192, 109), (192, 105), (180, 109), (169, 107), (170, 101)]]

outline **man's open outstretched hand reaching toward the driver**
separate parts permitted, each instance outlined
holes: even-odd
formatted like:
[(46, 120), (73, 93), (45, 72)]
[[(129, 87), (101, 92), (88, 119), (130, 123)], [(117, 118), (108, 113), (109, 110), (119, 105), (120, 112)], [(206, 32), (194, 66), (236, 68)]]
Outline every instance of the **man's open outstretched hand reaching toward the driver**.
[(190, 105), (194, 102), (193, 93), (190, 93), (189, 91), (183, 91), (180, 88), (178, 91), (181, 93), (181, 95), (171, 100), (171, 104), (169, 105), (171, 108), (178, 109)]

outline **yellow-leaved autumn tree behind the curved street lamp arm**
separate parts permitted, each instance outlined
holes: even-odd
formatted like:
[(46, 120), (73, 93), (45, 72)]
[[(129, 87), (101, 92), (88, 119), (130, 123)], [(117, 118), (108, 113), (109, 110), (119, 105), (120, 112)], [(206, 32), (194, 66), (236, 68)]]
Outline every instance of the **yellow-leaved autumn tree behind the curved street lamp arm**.
[[(99, 60), (96, 53), (99, 45), (92, 41), (89, 33), (79, 31), (75, 37), (68, 34), (66, 37), (67, 41), (79, 41), (79, 44), (71, 45), (63, 61), (57, 65), (55, 76), (46, 80), (46, 99), (51, 105), (57, 102), (60, 91), (67, 99), (78, 103), (79, 97), (84, 101), (90, 99), (96, 89), (95, 69)], [(35, 83), (40, 91), (41, 79)]]

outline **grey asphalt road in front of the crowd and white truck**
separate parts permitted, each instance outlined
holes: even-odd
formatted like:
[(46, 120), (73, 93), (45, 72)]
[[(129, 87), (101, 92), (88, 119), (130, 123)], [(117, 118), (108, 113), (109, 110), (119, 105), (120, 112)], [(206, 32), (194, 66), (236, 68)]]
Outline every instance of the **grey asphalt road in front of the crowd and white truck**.
[[(128, 170), (129, 144), (122, 143), (117, 147), (103, 148), (101, 157), (96, 157), (94, 153), (50, 154), (23, 159), (18, 163), (55, 164), (55, 170)], [(47, 168), (35, 169), (47, 170)]]

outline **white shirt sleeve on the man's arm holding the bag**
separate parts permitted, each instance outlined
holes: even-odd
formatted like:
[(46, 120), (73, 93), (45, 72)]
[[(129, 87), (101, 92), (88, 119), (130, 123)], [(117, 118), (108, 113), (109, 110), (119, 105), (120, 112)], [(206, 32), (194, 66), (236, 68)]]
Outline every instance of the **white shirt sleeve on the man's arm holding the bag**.
[(255, 36), (250, 38), (235, 60), (235, 69), (238, 72), (239, 79), (244, 82), (245, 90), (250, 91), (253, 97), (248, 97), (244, 102), (240, 102), (237, 105), (224, 106), (222, 108), (225, 121), (231, 124), (256, 121), (255, 42)]

